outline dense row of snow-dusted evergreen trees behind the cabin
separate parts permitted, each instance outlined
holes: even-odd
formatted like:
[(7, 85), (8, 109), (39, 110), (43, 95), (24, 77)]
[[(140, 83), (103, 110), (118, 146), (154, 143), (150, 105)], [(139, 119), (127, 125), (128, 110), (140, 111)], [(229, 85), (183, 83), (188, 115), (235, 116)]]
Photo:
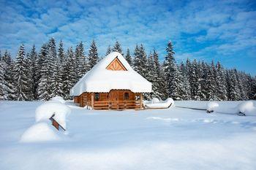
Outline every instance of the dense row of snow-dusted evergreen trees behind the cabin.
[[(57, 46), (57, 47), (56, 47)], [(153, 92), (144, 94), (176, 100), (248, 100), (256, 98), (256, 77), (236, 69), (225, 69), (221, 63), (190, 61), (176, 63), (171, 42), (167, 43), (165, 60), (159, 61), (156, 50), (148, 55), (143, 45), (136, 45), (133, 53), (123, 53), (116, 42), (106, 55), (117, 51), (125, 56), (136, 72), (153, 83)], [(0, 52), (1, 100), (49, 100), (53, 96), (70, 99), (69, 90), (100, 60), (97, 45), (91, 42), (88, 55), (83, 43), (64, 51), (63, 42), (56, 45), (50, 39), (39, 52), (35, 46), (29, 52), (20, 45), (17, 57)]]

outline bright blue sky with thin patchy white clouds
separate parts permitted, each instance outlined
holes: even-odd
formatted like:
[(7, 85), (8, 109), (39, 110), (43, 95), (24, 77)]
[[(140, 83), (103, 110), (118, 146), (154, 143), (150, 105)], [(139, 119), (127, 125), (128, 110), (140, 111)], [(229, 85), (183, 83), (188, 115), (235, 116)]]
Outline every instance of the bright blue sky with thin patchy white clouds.
[(21, 42), (37, 50), (50, 37), (65, 47), (95, 39), (99, 55), (116, 40), (123, 50), (143, 43), (160, 58), (171, 40), (177, 61), (221, 61), (256, 75), (255, 1), (2, 1), (0, 49), (16, 55)]

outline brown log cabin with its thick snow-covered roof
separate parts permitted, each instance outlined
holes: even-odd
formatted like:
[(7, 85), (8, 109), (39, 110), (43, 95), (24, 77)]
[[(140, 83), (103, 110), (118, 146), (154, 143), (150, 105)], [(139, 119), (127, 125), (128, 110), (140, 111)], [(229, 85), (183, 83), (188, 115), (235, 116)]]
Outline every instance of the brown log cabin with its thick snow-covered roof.
[(92, 109), (143, 109), (142, 93), (152, 85), (135, 72), (124, 57), (110, 53), (70, 90), (75, 103)]

